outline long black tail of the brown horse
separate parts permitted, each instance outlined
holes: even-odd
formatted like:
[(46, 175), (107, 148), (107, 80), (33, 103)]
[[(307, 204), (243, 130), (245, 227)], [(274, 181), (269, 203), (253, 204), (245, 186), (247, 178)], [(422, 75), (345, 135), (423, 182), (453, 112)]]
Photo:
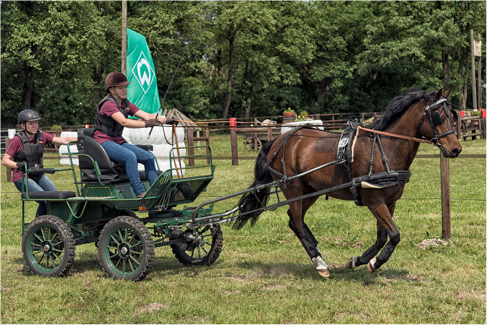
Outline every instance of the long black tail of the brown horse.
[[(272, 141), (268, 141), (266, 144), (262, 146), (261, 152), (257, 156), (257, 160), (255, 162), (255, 169), (254, 169), (255, 180), (252, 183), (252, 185), (249, 186), (249, 188), (254, 188), (256, 185), (267, 184), (274, 181), (274, 179), (271, 176), (271, 173), (264, 168), (264, 165), (267, 163), (267, 155), (269, 154), (271, 145), (274, 142), (274, 140), (275, 139), (273, 139)], [(244, 194), (244, 196), (239, 200), (239, 205), (238, 205), (239, 214), (256, 210), (266, 206), (267, 201), (269, 200), (269, 192), (270, 192), (270, 188), (267, 187), (258, 192), (256, 191), (255, 194), (254, 192)], [(242, 229), (242, 227), (244, 227), (244, 225), (247, 223), (249, 219), (252, 219), (250, 221), (250, 224), (252, 226), (255, 225), (257, 219), (262, 214), (262, 212), (263, 211), (253, 212), (241, 216), (240, 219), (236, 220), (233, 223), (233, 229)]]

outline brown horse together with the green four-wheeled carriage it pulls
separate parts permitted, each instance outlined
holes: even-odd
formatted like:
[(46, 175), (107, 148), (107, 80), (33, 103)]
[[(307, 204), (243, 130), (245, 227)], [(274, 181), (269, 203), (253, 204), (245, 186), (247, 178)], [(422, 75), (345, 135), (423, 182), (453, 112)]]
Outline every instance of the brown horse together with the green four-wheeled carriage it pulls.
[[(234, 227), (240, 229), (248, 220), (254, 224), (265, 210), (289, 205), (289, 227), (318, 273), (329, 276), (318, 241), (304, 223), (309, 207), (326, 194), (354, 200), (359, 206), (367, 206), (376, 217), (375, 244), (346, 264), (347, 268), (366, 264), (374, 273), (389, 260), (400, 241), (392, 217), (395, 202), (410, 179), (409, 166), (419, 143), (436, 145), (449, 158), (457, 157), (461, 151), (452, 127), (458, 117), (447, 106), (449, 94), (450, 91), (442, 94), (412, 90), (394, 98), (385, 114), (369, 128), (350, 122), (341, 134), (316, 126), (299, 126), (262, 147), (255, 181), (247, 190), (192, 208), (185, 204), (193, 202), (213, 179), (211, 151), (179, 158), (210, 157), (210, 163), (186, 167), (197, 170), (195, 176), (175, 179), (173, 170), (178, 168), (171, 164), (168, 170), (158, 172), (157, 180), (149, 187), (141, 173), (146, 194), (137, 199), (125, 167), (110, 160), (101, 145), (89, 136), (90, 129), (80, 129), (78, 152), (65, 153), (79, 156), (80, 181), (73, 163), (71, 168), (33, 171), (72, 170), (76, 193), (29, 192), (28, 188), (22, 193), (22, 222), (25, 201), (46, 200), (49, 214), (23, 224), (22, 252), (27, 266), (44, 276), (64, 274), (73, 264), (75, 246), (92, 242), (97, 244), (103, 269), (116, 279), (143, 279), (154, 260), (154, 248), (159, 246), (169, 245), (185, 265), (208, 265), (216, 261), (222, 250), (220, 223), (235, 221)], [(169, 154), (171, 160), (173, 150)], [(377, 160), (382, 163), (374, 163)], [(79, 188), (81, 184), (84, 186)], [(281, 201), (278, 196), (277, 203), (268, 205), (269, 196), (280, 192), (286, 200)], [(238, 196), (242, 198), (233, 209), (213, 213), (214, 203)], [(177, 205), (183, 208), (175, 209)], [(135, 211), (147, 213), (147, 217), (137, 217)]]

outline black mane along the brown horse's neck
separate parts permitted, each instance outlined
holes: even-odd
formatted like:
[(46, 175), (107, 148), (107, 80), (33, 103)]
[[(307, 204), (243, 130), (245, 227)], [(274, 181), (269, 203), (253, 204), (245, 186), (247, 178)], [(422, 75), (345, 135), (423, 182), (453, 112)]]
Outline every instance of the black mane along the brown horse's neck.
[(421, 89), (411, 88), (409, 91), (400, 94), (393, 98), (393, 100), (387, 105), (384, 114), (370, 125), (369, 128), (373, 128), (377, 131), (384, 131), (393, 121), (404, 113), (413, 103), (422, 99), (430, 100), (435, 92), (426, 92)]

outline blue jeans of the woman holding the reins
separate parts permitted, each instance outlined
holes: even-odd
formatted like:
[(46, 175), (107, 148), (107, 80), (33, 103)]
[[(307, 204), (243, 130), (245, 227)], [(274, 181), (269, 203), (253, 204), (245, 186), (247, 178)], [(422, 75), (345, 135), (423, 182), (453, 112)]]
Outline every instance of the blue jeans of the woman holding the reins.
[(157, 179), (154, 156), (149, 151), (127, 142), (116, 144), (112, 141), (105, 141), (101, 145), (105, 148), (112, 161), (125, 163), (127, 176), (129, 177), (135, 195), (145, 192), (144, 186), (142, 186), (142, 182), (140, 181), (137, 162), (144, 164), (150, 185)]

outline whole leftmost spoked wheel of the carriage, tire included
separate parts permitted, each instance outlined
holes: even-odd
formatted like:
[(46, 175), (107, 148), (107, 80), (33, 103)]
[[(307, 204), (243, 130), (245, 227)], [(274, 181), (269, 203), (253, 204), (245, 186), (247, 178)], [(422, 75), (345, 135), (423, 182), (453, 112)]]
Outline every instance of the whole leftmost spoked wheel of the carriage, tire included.
[(75, 260), (75, 237), (66, 222), (55, 216), (34, 219), (22, 236), (22, 253), (34, 274), (66, 274)]

